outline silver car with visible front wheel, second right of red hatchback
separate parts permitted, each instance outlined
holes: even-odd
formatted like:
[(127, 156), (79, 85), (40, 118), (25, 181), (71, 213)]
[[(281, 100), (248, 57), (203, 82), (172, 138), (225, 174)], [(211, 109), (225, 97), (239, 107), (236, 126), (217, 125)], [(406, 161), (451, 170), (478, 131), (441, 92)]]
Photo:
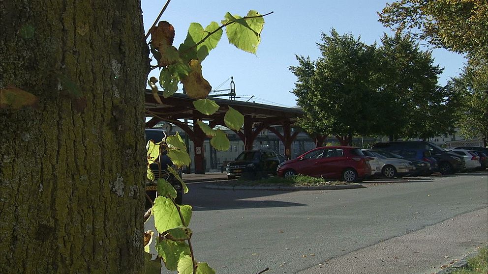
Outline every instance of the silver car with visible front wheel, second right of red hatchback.
[(394, 153), (380, 149), (368, 149), (368, 151), (378, 157), (382, 163), (381, 174), (386, 178), (391, 179), (411, 175), (416, 169), (411, 161), (405, 160)]

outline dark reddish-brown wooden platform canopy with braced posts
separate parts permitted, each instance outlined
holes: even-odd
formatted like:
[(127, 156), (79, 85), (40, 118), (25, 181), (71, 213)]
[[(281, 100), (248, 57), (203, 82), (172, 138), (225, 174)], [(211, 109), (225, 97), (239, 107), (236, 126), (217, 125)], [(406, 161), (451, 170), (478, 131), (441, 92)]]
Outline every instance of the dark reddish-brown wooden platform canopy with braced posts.
[[(303, 114), (303, 111), (298, 108), (212, 98), (220, 108), (213, 115), (205, 115), (195, 109), (192, 103), (195, 100), (185, 94), (175, 93), (169, 98), (162, 96), (160, 98), (162, 105), (156, 102), (151, 90), (146, 90), (146, 116), (152, 116), (152, 119), (146, 123), (146, 128), (152, 128), (157, 123), (166, 121), (183, 129), (194, 143), (194, 164), (197, 174), (205, 173), (202, 148), (207, 136), (200, 127), (189, 127), (181, 121), (182, 119), (208, 121), (211, 128), (217, 125), (225, 126), (225, 112), (232, 107), (244, 115), (244, 128), (236, 134), (243, 140), (246, 150), (252, 149), (254, 139), (262, 130), (268, 129), (281, 140), (285, 147), (285, 157), (290, 158), (291, 144), (299, 133), (299, 130), (292, 132), (292, 128), (295, 127), (297, 118)], [(277, 131), (276, 126), (281, 126), (283, 132)]]

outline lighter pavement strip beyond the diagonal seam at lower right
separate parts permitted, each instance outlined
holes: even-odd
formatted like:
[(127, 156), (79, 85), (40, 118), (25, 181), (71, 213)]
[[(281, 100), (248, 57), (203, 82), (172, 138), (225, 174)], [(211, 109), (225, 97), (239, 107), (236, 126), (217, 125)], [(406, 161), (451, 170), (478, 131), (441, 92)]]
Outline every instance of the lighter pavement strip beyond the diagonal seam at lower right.
[(437, 273), (487, 244), (488, 210), (483, 208), (327, 260), (299, 274)]

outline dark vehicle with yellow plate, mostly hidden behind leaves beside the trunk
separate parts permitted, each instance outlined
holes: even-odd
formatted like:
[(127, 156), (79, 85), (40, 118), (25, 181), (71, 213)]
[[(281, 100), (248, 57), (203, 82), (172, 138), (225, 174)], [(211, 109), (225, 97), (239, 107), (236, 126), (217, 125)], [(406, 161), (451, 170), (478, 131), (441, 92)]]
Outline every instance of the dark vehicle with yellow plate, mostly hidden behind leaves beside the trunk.
[[(146, 142), (152, 140), (154, 143), (160, 142), (164, 137), (166, 137), (166, 132), (160, 129), (145, 129)], [(166, 155), (166, 153), (161, 153), (159, 155), (158, 163), (161, 165), (161, 177), (159, 177), (159, 167), (157, 164), (151, 164), (150, 168), (152, 173), (154, 173), (155, 180), (159, 178), (164, 178), (168, 181), (173, 188), (176, 190), (177, 197), (175, 202), (177, 204), (183, 203), (183, 186), (174, 175), (168, 172), (168, 166), (174, 167), (181, 176), (181, 169), (176, 168), (171, 162), (171, 159)], [(152, 201), (156, 198), (157, 188), (156, 184), (148, 181), (146, 184), (146, 194), (151, 198)], [(151, 202), (146, 199), (146, 208), (149, 209), (152, 206)]]

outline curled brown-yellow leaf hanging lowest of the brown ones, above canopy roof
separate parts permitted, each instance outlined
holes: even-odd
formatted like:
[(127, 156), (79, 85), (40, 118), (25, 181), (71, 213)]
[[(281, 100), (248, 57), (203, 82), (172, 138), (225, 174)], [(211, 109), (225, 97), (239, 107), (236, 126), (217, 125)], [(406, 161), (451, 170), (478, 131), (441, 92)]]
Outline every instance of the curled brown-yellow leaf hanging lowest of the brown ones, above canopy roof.
[(191, 72), (181, 79), (186, 95), (193, 99), (202, 99), (209, 95), (212, 86), (203, 78), (202, 65), (198, 60), (190, 60)]

